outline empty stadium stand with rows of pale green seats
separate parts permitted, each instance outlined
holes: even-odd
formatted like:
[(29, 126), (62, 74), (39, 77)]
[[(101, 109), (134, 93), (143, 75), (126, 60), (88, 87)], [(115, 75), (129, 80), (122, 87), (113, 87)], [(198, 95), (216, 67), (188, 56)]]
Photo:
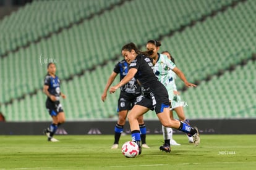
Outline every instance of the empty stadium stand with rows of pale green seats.
[(0, 110), (7, 121), (50, 120), (41, 88), (51, 60), (67, 121), (114, 119), (118, 92), (105, 103), (101, 93), (122, 45), (160, 39), (198, 82), (182, 92), (188, 118), (255, 118), (255, 10), (253, 0), (33, 1), (0, 20)]

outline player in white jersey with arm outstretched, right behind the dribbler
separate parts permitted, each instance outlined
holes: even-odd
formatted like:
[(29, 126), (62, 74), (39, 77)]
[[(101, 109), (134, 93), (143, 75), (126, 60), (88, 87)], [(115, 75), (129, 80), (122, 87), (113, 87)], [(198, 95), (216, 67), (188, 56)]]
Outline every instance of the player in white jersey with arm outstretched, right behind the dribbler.
[[(182, 81), (187, 82), (186, 77), (184, 76), (184, 73), (182, 73), (179, 68), (176, 67), (176, 65), (171, 62), (171, 60), (168, 59), (166, 55), (159, 54), (158, 51), (160, 50), (161, 42), (156, 40), (150, 40), (147, 42), (147, 50), (153, 51), (153, 54), (150, 55), (150, 57), (153, 59), (154, 64), (154, 71), (155, 75), (158, 77), (159, 81), (166, 87), (169, 95), (169, 101), (171, 102), (171, 107), (174, 106), (174, 99), (176, 96), (174, 96), (174, 77), (173, 74), (171, 74), (170, 70), (173, 70), (179, 78), (182, 79)], [(176, 99), (175, 99), (176, 100)], [(173, 118), (173, 110), (170, 110), (170, 118)], [(185, 115), (182, 112), (179, 112), (181, 115), (177, 113), (179, 116), (179, 120), (182, 122), (185, 122)], [(177, 142), (173, 139), (173, 129), (170, 127), (164, 127), (162, 125), (163, 130), (163, 136), (164, 136), (164, 144), (160, 147), (160, 150), (163, 150), (165, 152), (171, 152), (170, 145), (180, 145), (177, 144)]]

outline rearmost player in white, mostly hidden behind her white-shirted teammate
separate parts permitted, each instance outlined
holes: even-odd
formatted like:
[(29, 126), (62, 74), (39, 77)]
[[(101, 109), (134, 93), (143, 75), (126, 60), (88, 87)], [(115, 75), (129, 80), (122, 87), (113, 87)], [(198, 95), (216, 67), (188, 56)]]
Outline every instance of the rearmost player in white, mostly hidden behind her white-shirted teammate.
[[(170, 59), (175, 64), (174, 57), (168, 51), (163, 51), (162, 54), (166, 55), (168, 57), (168, 59)], [(189, 119), (185, 118), (185, 113), (183, 110), (184, 102), (182, 102), (182, 100), (181, 100), (181, 96), (180, 96), (179, 92), (177, 91), (177, 86), (175, 83), (177, 75), (172, 70), (170, 70), (170, 75), (171, 75), (171, 78), (173, 78), (173, 92), (174, 92), (174, 99), (173, 99), (174, 103), (173, 103), (173, 107), (171, 109), (176, 111), (177, 116), (179, 117), (179, 120), (185, 121), (187, 124), (189, 124)], [(171, 113), (171, 118), (173, 118), (172, 113)], [(166, 130), (167, 130), (166, 134), (173, 136), (173, 129), (169, 129), (167, 127)], [(187, 136), (187, 137), (189, 139), (189, 143), (192, 144), (193, 137), (192, 136)], [(170, 139), (172, 139), (172, 138), (170, 137)], [(171, 143), (171, 145), (173, 145), (172, 141), (170, 143)]]

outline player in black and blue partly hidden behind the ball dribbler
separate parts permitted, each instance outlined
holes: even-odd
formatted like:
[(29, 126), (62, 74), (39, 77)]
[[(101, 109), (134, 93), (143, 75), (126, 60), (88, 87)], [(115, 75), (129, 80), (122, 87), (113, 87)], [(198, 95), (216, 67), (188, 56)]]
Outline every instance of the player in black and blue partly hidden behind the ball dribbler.
[[(103, 94), (101, 95), (101, 100), (105, 102), (107, 97), (107, 92), (109, 86), (113, 83), (114, 79), (118, 74), (120, 74), (120, 81), (124, 76), (127, 75), (129, 70), (129, 63), (126, 60), (119, 61), (115, 67), (113, 72), (108, 78), (108, 82), (106, 83), (106, 87), (104, 89)], [(119, 139), (124, 129), (124, 124), (126, 123), (127, 113), (134, 104), (139, 102), (142, 99), (141, 88), (137, 83), (135, 78), (132, 78), (127, 84), (124, 84), (120, 87), (121, 92), (118, 99), (118, 115), (119, 119), (114, 127), (114, 144), (111, 148), (118, 148)], [(143, 121), (143, 115), (138, 117), (139, 127), (140, 127), (140, 137), (142, 139), (142, 147), (149, 148), (146, 144), (146, 125)]]

